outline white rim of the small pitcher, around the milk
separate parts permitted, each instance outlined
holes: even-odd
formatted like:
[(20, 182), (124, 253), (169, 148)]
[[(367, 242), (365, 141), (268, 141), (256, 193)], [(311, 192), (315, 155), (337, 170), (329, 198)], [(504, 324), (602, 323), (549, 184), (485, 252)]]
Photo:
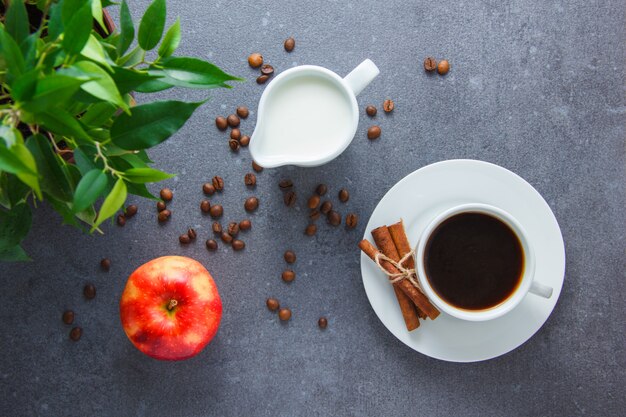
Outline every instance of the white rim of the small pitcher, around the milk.
[[(311, 157), (305, 156), (300, 159), (296, 159), (291, 156), (285, 156), (285, 155), (276, 155), (269, 159), (255, 158), (254, 153), (256, 149), (256, 146), (255, 146), (256, 142), (254, 140), (254, 137), (257, 132), (257, 127), (262, 126), (259, 122), (260, 122), (260, 118), (262, 117), (261, 114), (265, 108), (265, 102), (267, 101), (267, 97), (271, 95), (272, 90), (275, 89), (277, 85), (279, 85), (283, 81), (286, 81), (285, 80), (286, 78), (292, 78), (295, 75), (303, 73), (303, 72), (309, 72), (310, 74), (317, 75), (317, 76), (323, 75), (327, 78), (332, 79), (335, 82), (335, 84), (337, 84), (341, 88), (342, 93), (348, 98), (350, 102), (350, 107), (351, 107), (351, 112), (352, 112), (352, 127), (350, 129), (350, 134), (347, 134), (346, 137), (340, 143), (338, 143), (337, 147), (335, 148), (333, 152), (330, 152), (321, 158), (311, 158)], [(257, 126), (255, 127), (254, 132), (252, 133), (252, 136), (250, 137), (250, 153), (253, 159), (264, 168), (275, 168), (275, 167), (279, 167), (283, 165), (297, 165), (297, 166), (302, 166), (302, 167), (314, 167), (314, 166), (323, 165), (327, 162), (332, 161), (337, 156), (341, 155), (343, 151), (346, 150), (348, 145), (350, 145), (350, 143), (352, 142), (354, 135), (356, 134), (358, 124), (359, 124), (359, 109), (358, 109), (358, 104), (356, 101), (356, 96), (354, 92), (350, 89), (350, 86), (348, 86), (348, 84), (344, 81), (344, 79), (341, 78), (334, 71), (331, 71), (328, 68), (324, 68), (319, 65), (299, 65), (297, 67), (289, 68), (288, 70), (281, 72), (276, 77), (274, 77), (272, 81), (270, 81), (267, 87), (265, 87), (265, 90), (263, 91), (263, 94), (261, 95), (261, 99), (259, 100), (259, 107), (257, 111)]]

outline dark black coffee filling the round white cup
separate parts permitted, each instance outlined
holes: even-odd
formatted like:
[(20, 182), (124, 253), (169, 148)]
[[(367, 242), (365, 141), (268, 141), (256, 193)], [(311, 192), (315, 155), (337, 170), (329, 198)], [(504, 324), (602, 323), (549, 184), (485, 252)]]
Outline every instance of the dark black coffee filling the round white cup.
[(465, 310), (505, 301), (524, 273), (524, 250), (511, 228), (487, 214), (461, 213), (430, 235), (424, 250), (426, 277), (437, 295)]

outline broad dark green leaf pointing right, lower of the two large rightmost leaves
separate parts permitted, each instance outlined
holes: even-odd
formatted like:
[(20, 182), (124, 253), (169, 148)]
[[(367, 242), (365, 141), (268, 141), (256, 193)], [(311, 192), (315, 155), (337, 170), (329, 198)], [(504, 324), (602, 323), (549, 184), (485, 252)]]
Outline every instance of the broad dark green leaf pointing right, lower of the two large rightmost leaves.
[(122, 149), (156, 146), (180, 129), (204, 102), (157, 101), (120, 114), (111, 126), (111, 140)]

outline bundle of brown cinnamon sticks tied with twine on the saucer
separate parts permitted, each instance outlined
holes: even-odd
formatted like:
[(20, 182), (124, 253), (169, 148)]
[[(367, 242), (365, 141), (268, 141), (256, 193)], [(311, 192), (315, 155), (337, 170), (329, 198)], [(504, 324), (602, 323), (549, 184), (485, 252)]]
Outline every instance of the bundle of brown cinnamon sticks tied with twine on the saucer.
[[(376, 261), (378, 253), (382, 253), (397, 263), (402, 257), (411, 252), (411, 244), (406, 236), (402, 220), (391, 226), (381, 226), (372, 230), (372, 237), (378, 249), (367, 239), (359, 242), (359, 248), (373, 261)], [(400, 273), (400, 270), (387, 260), (380, 259), (379, 264), (390, 274)], [(414, 269), (415, 261), (413, 257), (410, 256), (404, 261), (402, 266), (407, 269)], [(439, 315), (439, 310), (408, 279), (401, 279), (395, 282), (393, 290), (398, 299), (407, 330), (417, 329), (420, 325), (419, 319), (428, 317), (434, 320)]]

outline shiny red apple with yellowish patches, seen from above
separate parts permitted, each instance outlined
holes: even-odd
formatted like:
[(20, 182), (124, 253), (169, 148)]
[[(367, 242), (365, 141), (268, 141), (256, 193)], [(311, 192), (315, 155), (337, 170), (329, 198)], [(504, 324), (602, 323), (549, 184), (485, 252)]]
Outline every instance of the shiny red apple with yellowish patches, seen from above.
[(128, 277), (120, 317), (137, 349), (155, 359), (182, 360), (197, 355), (213, 339), (222, 301), (200, 262), (163, 256)]

